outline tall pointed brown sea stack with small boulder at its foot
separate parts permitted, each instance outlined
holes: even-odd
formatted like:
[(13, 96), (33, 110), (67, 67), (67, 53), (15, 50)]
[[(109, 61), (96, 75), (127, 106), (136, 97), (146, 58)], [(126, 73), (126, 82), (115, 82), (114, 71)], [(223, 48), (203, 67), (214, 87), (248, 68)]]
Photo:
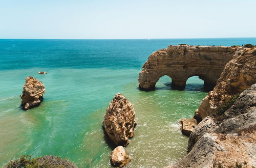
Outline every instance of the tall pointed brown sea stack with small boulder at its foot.
[(118, 146), (127, 146), (128, 138), (133, 137), (135, 111), (130, 103), (122, 94), (115, 95), (106, 108), (103, 120), (103, 128), (106, 135)]

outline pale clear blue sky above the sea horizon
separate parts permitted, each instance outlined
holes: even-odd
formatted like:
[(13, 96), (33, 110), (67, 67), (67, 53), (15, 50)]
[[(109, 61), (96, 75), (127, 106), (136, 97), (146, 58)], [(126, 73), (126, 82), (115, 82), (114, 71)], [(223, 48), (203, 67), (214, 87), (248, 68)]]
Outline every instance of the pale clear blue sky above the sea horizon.
[(255, 0), (0, 0), (0, 38), (256, 37)]

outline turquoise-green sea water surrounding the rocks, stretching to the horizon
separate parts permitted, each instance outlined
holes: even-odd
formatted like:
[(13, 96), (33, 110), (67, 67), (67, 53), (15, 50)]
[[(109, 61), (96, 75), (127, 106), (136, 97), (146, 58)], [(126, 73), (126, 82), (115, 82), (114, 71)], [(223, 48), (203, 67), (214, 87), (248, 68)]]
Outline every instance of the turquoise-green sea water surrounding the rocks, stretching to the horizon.
[[(256, 38), (148, 40), (0, 40), (0, 166), (22, 154), (67, 157), (81, 167), (110, 167), (112, 147), (101, 125), (106, 107), (120, 92), (133, 104), (138, 125), (125, 149), (127, 167), (163, 167), (186, 154), (181, 118), (194, 115), (203, 81), (172, 90), (163, 76), (156, 90), (138, 90), (148, 55), (170, 44), (241, 45)], [(40, 75), (37, 71), (47, 71)], [(44, 82), (40, 106), (19, 108), (27, 76)]]

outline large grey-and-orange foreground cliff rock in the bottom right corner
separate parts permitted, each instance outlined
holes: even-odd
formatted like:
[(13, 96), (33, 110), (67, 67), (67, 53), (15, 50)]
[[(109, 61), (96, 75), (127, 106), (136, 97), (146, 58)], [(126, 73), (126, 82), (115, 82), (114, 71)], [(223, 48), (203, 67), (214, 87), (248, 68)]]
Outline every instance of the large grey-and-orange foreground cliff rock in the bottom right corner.
[(240, 94), (222, 120), (204, 118), (190, 134), (188, 152), (168, 167), (255, 167), (256, 84)]

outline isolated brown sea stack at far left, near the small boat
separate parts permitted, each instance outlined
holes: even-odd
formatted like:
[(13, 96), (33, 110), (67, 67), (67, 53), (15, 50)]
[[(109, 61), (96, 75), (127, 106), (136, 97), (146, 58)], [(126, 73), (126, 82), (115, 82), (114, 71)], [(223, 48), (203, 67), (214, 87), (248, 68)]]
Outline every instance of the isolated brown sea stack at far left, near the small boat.
[(45, 86), (41, 81), (32, 76), (27, 77), (23, 87), (23, 93), (20, 95), (22, 98), (21, 106), (27, 110), (40, 105), (45, 90)]

